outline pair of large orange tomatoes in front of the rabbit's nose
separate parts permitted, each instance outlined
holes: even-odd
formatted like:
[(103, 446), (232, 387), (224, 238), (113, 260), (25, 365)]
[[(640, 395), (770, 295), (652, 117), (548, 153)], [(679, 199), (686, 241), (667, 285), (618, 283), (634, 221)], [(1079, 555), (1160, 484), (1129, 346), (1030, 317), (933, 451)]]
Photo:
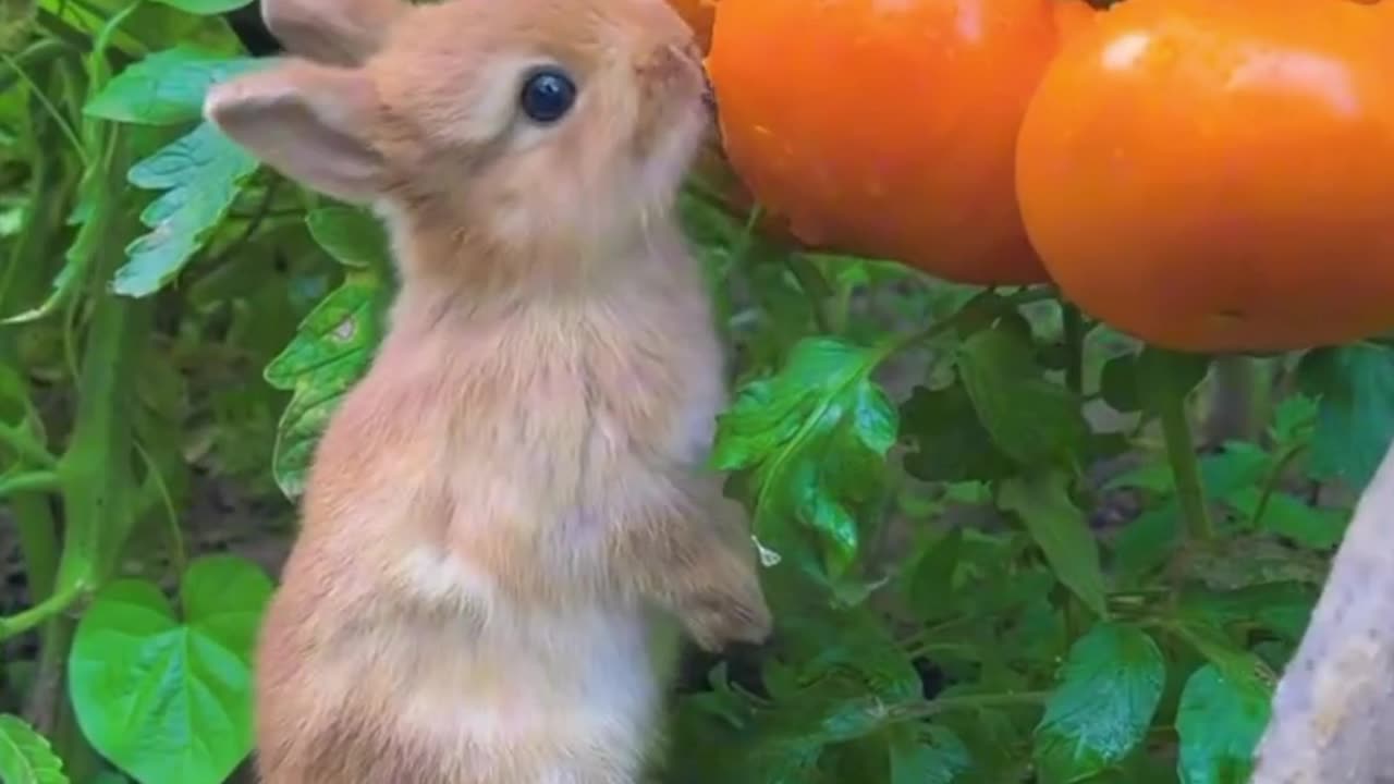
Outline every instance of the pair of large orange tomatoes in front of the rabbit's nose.
[(707, 66), (800, 241), (1267, 352), (1394, 328), (1390, 33), (1358, 0), (719, 0)]

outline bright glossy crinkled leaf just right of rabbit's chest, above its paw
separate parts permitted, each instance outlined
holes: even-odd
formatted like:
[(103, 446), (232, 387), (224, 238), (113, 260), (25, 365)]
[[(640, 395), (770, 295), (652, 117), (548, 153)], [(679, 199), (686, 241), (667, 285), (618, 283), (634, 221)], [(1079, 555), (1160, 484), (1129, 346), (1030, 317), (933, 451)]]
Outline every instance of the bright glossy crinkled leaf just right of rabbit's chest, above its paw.
[[(756, 534), (802, 552), (792, 523), (803, 523), (817, 532), (834, 578), (856, 558), (857, 511), (878, 498), (899, 430), (895, 406), (870, 379), (881, 356), (807, 338), (778, 375), (744, 385), (718, 419), (712, 463), (751, 473)], [(807, 561), (800, 558), (817, 575)]]

